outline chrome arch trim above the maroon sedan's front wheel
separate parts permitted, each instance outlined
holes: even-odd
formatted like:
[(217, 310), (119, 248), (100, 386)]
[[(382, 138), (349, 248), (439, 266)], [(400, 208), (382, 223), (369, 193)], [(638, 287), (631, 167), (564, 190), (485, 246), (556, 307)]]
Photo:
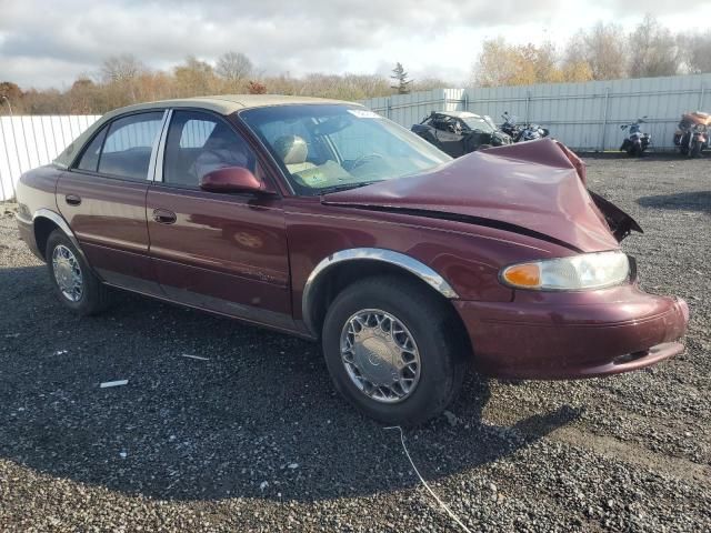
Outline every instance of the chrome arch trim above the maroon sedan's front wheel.
[(317, 281), (319, 276), (323, 274), (323, 272), (326, 272), (328, 269), (338, 263), (359, 260), (381, 261), (383, 263), (394, 264), (395, 266), (400, 266), (411, 274), (417, 275), (444, 298), (459, 298), (457, 292), (454, 292), (454, 289), (452, 289), (451, 285), (440, 274), (438, 274), (427, 264), (411, 258), (410, 255), (405, 255), (404, 253), (400, 252), (393, 252), (392, 250), (384, 250), (381, 248), (352, 248), (350, 250), (341, 250), (321, 260), (321, 262), (317, 264), (316, 268), (311, 271), (306, 284), (303, 285), (303, 295), (301, 296), (301, 314), (306, 326), (312, 334), (318, 336), (318, 332), (316, 331), (316, 326), (312, 323), (311, 319), (311, 308), (313, 306), (313, 302), (311, 300), (313, 298), (314, 289), (318, 284)]

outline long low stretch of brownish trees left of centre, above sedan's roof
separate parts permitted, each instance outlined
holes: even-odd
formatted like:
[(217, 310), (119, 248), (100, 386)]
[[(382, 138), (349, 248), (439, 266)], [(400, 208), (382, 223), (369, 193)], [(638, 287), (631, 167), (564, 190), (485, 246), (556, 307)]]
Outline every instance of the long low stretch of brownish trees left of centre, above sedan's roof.
[(435, 78), (401, 80), (394, 87), (391, 82), (378, 74), (264, 76), (240, 52), (223, 53), (214, 64), (188, 57), (170, 71), (149, 69), (137, 57), (121, 54), (107, 58), (97, 73), (80, 76), (66, 90), (23, 90), (2, 81), (0, 113), (9, 112), (2, 97), (16, 114), (93, 114), (131, 103), (208, 94), (269, 92), (352, 101), (402, 92), (402, 87), (420, 91), (448, 84)]

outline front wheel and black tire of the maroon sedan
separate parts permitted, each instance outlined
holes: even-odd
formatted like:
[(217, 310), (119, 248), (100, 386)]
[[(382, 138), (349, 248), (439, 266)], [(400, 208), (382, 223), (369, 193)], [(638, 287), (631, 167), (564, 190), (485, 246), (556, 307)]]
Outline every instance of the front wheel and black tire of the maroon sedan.
[(454, 311), (401, 276), (368, 278), (339, 293), (322, 343), (336, 389), (387, 424), (417, 425), (440, 414), (467, 369), (468, 343)]

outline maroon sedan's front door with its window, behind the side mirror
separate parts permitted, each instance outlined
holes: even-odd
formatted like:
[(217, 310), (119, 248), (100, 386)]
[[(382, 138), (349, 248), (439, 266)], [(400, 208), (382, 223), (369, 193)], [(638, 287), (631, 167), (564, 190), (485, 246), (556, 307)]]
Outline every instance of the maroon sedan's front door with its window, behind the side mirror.
[(281, 198), (202, 191), (222, 167), (260, 175), (253, 150), (222, 118), (172, 112), (147, 200), (150, 254), (171, 300), (293, 329)]

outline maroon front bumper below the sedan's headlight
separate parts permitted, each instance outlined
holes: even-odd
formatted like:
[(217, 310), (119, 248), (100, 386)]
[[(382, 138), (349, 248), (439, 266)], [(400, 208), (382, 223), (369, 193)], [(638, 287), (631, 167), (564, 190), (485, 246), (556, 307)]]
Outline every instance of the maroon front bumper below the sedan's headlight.
[(681, 299), (634, 284), (600, 291), (517, 291), (512, 302), (454, 301), (479, 371), (577, 379), (642, 369), (677, 355), (689, 322)]

